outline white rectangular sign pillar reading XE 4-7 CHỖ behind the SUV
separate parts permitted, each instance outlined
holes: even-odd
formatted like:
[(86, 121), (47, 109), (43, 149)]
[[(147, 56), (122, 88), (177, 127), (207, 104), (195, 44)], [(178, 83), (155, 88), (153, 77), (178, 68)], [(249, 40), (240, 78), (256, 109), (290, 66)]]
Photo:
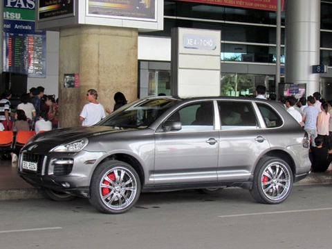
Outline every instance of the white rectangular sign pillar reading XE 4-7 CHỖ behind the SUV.
[(218, 96), (220, 41), (217, 30), (172, 30), (172, 90), (179, 97)]

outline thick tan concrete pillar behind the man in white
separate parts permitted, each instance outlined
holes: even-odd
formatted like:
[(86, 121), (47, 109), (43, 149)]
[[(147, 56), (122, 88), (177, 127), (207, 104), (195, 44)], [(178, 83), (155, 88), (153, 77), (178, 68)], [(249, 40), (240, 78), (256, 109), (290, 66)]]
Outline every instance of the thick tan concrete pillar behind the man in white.
[[(59, 30), (59, 127), (80, 126), (86, 91), (113, 110), (113, 95), (137, 99), (138, 30), (108, 26), (77, 26)], [(79, 88), (64, 88), (64, 74), (80, 74)]]

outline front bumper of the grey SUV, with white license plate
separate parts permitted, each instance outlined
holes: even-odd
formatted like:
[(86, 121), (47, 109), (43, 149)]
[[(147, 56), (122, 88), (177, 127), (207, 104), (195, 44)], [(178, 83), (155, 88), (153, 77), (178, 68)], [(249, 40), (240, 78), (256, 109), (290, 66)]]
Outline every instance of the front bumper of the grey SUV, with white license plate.
[(102, 152), (86, 151), (40, 155), (22, 150), (18, 163), (19, 176), (36, 188), (89, 197), (93, 170), (103, 155)]

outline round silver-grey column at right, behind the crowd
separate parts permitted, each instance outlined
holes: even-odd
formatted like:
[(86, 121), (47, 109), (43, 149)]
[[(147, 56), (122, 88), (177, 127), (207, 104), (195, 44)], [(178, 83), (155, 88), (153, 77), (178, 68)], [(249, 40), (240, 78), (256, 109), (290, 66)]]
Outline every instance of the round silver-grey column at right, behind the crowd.
[(306, 95), (320, 92), (320, 0), (285, 1), (285, 82), (306, 83)]

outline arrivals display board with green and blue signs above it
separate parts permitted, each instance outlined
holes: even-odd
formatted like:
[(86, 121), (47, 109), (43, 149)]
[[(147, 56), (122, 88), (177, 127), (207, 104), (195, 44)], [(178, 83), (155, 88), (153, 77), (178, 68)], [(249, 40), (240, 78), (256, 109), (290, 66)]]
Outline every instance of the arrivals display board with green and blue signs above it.
[(5, 1), (3, 71), (46, 77), (46, 31), (35, 30), (35, 2)]

